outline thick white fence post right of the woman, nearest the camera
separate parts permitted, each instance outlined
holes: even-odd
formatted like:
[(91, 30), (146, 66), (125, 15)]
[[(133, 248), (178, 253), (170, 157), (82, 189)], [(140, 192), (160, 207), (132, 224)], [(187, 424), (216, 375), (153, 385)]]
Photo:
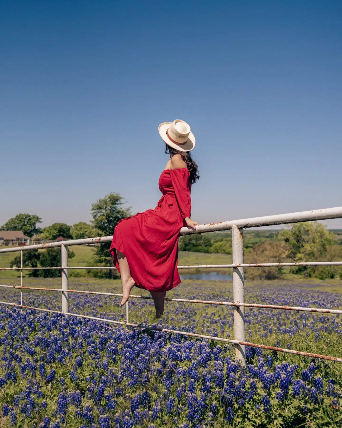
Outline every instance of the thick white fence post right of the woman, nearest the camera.
[[(243, 229), (232, 227), (233, 264), (243, 263)], [(245, 303), (245, 284), (243, 268), (233, 268), (233, 300), (234, 303)], [(234, 339), (245, 342), (245, 307), (234, 306)], [(235, 345), (235, 359), (246, 363), (245, 345)]]

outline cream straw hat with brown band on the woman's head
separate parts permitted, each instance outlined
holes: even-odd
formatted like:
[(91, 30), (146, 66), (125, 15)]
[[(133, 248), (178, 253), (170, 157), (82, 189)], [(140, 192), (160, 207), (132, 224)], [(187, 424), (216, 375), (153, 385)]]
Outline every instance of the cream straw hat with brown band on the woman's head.
[(190, 152), (195, 147), (195, 136), (190, 131), (190, 126), (183, 120), (161, 123), (158, 131), (165, 143), (176, 150)]

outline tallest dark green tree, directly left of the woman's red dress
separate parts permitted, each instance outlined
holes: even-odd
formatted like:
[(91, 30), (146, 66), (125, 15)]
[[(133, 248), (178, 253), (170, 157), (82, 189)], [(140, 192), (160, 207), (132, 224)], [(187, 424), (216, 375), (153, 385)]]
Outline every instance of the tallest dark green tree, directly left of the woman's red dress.
[[(131, 215), (131, 207), (123, 208), (124, 198), (119, 193), (109, 193), (103, 199), (98, 199), (91, 205), (92, 225), (100, 231), (100, 236), (113, 235), (118, 222)], [(104, 242), (96, 248), (95, 262), (104, 266), (112, 266), (112, 256), (109, 253), (110, 242)], [(113, 277), (109, 269), (109, 278)]]

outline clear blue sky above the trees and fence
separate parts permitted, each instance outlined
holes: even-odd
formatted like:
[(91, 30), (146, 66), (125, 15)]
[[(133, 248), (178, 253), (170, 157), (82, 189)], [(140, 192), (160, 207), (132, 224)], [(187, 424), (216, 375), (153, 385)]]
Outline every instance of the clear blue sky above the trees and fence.
[(193, 220), (342, 205), (341, 19), (340, 0), (1, 2), (0, 224), (88, 221), (109, 192), (154, 208), (174, 119)]

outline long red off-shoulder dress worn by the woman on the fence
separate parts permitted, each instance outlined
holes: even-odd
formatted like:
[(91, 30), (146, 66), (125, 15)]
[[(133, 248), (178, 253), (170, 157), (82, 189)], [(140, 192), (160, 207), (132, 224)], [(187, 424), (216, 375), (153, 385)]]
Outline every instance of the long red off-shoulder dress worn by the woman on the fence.
[(126, 256), (136, 285), (149, 291), (171, 290), (180, 283), (178, 236), (191, 214), (189, 170), (165, 169), (159, 190), (162, 197), (154, 210), (118, 222), (110, 247), (115, 267), (119, 270), (117, 249)]

